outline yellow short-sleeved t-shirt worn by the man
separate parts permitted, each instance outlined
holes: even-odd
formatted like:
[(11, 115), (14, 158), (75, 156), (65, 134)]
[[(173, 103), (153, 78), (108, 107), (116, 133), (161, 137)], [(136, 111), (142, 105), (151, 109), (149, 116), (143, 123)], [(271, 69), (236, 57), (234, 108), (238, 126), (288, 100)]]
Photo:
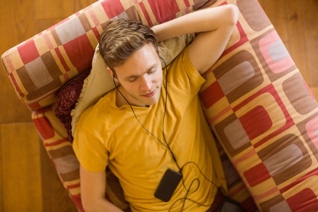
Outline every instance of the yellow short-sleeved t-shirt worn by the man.
[[(198, 99), (205, 80), (190, 63), (187, 50), (168, 66), (164, 134), (165, 70), (158, 103), (133, 106), (144, 128), (129, 105), (116, 106), (116, 89), (88, 108), (78, 122), (73, 148), (80, 164), (92, 172), (109, 166), (119, 178), (132, 211), (180, 211), (183, 203), (182, 211), (206, 211), (217, 187), (226, 187), (215, 141)], [(164, 137), (184, 180), (169, 202), (154, 197), (165, 171), (179, 171)]]

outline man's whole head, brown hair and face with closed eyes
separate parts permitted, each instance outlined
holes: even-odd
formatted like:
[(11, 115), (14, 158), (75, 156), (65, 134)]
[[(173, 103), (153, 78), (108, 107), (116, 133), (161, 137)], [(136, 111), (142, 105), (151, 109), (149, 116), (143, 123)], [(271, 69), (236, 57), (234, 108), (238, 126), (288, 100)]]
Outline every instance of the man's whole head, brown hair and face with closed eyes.
[(100, 38), (100, 54), (130, 104), (147, 106), (159, 100), (163, 73), (149, 26), (129, 19), (110, 21)]

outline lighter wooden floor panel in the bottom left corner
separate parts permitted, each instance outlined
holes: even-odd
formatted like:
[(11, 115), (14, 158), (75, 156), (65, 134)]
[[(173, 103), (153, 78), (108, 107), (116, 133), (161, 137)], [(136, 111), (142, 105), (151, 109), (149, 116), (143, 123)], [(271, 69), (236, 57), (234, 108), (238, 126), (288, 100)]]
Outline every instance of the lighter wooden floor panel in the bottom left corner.
[(43, 211), (40, 139), (33, 123), (1, 125), (1, 140), (3, 211)]

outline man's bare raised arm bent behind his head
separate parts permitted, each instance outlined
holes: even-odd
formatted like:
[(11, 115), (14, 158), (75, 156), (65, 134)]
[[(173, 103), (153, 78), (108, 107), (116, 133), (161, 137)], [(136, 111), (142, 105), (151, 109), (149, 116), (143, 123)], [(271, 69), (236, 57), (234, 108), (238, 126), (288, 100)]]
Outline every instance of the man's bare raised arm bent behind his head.
[(239, 16), (234, 5), (196, 11), (152, 27), (159, 42), (189, 33), (197, 33), (188, 55), (193, 66), (203, 74), (220, 57), (233, 33)]

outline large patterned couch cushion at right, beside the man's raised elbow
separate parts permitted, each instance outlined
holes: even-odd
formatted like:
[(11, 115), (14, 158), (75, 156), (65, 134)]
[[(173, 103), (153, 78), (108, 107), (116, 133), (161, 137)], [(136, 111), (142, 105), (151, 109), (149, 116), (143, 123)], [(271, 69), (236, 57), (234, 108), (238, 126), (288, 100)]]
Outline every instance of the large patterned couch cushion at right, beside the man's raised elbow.
[(257, 1), (206, 74), (205, 114), (261, 211), (318, 211), (318, 105)]

